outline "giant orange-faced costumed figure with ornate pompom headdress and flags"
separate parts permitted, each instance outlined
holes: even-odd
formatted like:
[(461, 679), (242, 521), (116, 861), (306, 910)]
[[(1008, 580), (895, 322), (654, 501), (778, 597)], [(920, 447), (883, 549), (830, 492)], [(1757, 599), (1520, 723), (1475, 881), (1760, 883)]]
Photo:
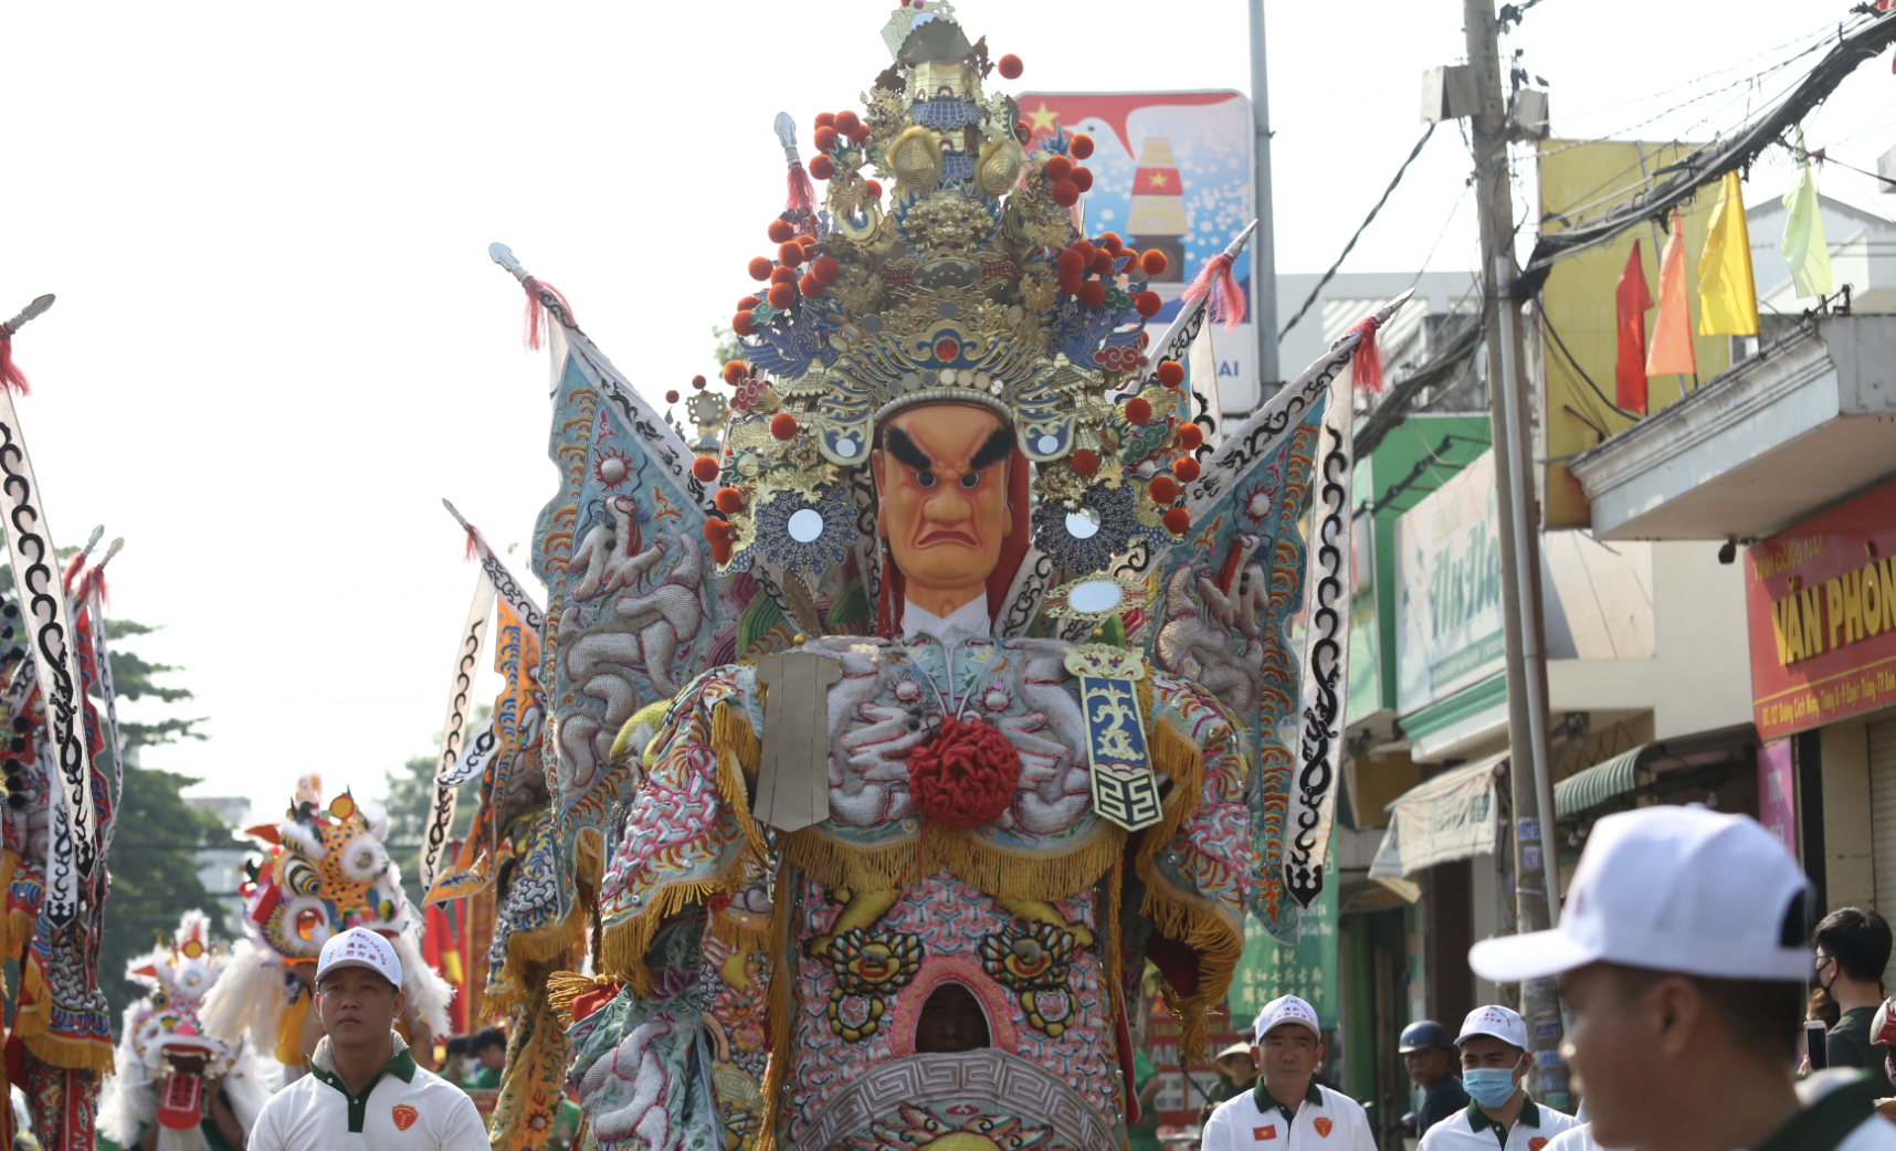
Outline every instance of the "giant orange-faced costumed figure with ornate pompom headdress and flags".
[(884, 38), (819, 118), (823, 210), (779, 118), (692, 448), (493, 250), (552, 319), (563, 478), (557, 882), (508, 903), (593, 916), (550, 999), (601, 1147), (1121, 1147), (1145, 963), (1202, 1047), (1244, 916), (1295, 939), (1323, 884), (1348, 389), (1392, 309), (1213, 444), (1181, 360), (1236, 245), (1151, 341), (1164, 258), (1069, 210), (1090, 140), (1030, 152), (942, 0)]

